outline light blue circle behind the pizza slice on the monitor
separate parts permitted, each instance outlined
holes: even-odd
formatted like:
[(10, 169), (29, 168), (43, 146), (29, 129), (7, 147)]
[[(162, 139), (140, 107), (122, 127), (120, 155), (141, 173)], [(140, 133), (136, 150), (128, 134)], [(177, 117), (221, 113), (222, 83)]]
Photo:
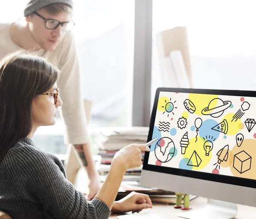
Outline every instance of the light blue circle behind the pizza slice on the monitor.
[(212, 142), (216, 141), (220, 135), (220, 132), (212, 130), (212, 127), (215, 127), (215, 125), (218, 125), (218, 122), (213, 119), (203, 121), (201, 127), (199, 128), (199, 136)]

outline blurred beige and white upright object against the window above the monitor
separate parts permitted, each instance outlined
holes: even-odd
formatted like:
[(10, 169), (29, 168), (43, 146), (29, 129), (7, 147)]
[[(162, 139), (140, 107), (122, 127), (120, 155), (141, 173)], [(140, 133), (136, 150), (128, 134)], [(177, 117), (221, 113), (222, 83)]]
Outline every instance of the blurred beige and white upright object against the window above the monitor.
[(162, 86), (192, 87), (192, 69), (186, 27), (175, 27), (156, 35)]

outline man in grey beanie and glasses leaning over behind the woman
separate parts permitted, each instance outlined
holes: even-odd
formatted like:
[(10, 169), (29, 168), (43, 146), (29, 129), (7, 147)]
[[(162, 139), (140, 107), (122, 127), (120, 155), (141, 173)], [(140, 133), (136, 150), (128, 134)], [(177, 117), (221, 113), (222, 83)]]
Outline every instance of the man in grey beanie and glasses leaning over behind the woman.
[(65, 144), (73, 144), (90, 179), (88, 199), (100, 189), (98, 173), (90, 150), (80, 72), (71, 19), (72, 0), (30, 0), (24, 19), (0, 23), (0, 60), (19, 49), (35, 49), (60, 67), (59, 95), (63, 100), (61, 115), (66, 125)]

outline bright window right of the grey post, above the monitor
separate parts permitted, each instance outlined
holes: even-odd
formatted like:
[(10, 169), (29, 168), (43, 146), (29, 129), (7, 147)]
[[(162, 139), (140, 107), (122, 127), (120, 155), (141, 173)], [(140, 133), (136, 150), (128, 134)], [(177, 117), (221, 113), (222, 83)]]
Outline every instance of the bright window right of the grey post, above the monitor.
[(251, 1), (153, 0), (152, 95), (161, 86), (156, 34), (186, 26), (194, 88), (256, 88), (256, 14)]

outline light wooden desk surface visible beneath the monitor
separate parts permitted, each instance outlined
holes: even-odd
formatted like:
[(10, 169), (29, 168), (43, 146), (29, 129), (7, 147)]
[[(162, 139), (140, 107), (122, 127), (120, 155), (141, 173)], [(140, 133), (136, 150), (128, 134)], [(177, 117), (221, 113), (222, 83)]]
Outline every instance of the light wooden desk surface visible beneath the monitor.
[[(206, 205), (207, 199), (202, 197), (197, 197), (190, 201), (190, 206), (192, 210), (202, 208)], [(177, 213), (182, 213), (183, 210), (175, 209), (173, 205), (160, 205), (153, 204), (153, 208), (144, 209), (143, 211), (152, 211), (157, 215), (161, 216), (163, 219), (181, 219), (181, 217), (177, 217)], [(110, 219), (116, 219), (116, 216), (121, 214), (111, 214)], [(238, 215), (235, 219), (255, 219), (256, 218), (256, 207), (248, 207), (245, 205), (238, 205)]]

